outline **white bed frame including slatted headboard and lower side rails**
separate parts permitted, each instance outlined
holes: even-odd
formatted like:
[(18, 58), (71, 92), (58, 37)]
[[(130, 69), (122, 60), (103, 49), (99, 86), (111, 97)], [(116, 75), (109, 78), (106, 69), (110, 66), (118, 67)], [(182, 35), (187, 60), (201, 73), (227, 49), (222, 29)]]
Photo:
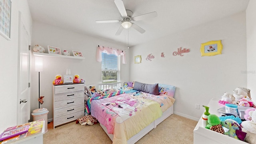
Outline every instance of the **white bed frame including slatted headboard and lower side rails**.
[[(91, 84), (88, 86), (95, 86), (98, 90), (106, 90), (111, 88), (119, 88), (123, 86), (123, 82), (116, 82), (112, 84)], [(156, 128), (158, 124), (160, 124), (162, 121), (164, 121), (166, 118), (168, 118), (172, 114), (173, 114), (173, 105), (170, 108), (168, 108), (165, 112), (163, 112), (160, 118), (156, 119), (154, 122), (149, 124), (146, 128), (138, 132), (138, 134), (132, 136), (129, 140), (127, 140), (127, 144), (134, 144), (135, 142), (140, 140), (143, 136), (145, 136), (148, 132), (150, 132), (150, 130), (153, 130), (154, 128)], [(108, 137), (113, 141), (114, 135), (108, 134), (107, 128), (104, 125), (100, 124), (100, 126), (106, 132)]]

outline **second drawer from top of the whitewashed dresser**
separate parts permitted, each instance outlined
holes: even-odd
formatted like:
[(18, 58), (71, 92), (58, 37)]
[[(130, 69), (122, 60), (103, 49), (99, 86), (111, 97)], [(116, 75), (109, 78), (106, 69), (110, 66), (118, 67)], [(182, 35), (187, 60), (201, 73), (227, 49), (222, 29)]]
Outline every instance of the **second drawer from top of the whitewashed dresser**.
[(55, 102), (60, 100), (69, 100), (72, 98), (80, 98), (80, 97), (84, 97), (84, 91), (61, 93), (61, 94), (55, 95)]

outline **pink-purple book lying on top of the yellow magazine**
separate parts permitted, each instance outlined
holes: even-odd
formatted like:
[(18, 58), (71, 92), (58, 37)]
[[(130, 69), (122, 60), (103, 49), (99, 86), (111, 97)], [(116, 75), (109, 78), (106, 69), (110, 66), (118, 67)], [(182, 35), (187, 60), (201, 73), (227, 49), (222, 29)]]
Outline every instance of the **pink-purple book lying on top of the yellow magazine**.
[(0, 141), (5, 140), (8, 138), (12, 138), (14, 136), (18, 136), (20, 134), (24, 134), (28, 132), (29, 125), (26, 126), (12, 126), (10, 128), (7, 128), (1, 135), (0, 135)]

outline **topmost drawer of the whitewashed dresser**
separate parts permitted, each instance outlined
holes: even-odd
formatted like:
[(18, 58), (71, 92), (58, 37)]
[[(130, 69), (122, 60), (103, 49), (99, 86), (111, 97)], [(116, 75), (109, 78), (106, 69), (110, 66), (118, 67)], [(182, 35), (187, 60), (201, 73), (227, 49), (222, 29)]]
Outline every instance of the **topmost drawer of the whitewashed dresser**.
[(61, 94), (61, 93), (76, 92), (81, 90), (84, 91), (84, 84), (67, 84), (67, 85), (55, 86), (54, 93)]

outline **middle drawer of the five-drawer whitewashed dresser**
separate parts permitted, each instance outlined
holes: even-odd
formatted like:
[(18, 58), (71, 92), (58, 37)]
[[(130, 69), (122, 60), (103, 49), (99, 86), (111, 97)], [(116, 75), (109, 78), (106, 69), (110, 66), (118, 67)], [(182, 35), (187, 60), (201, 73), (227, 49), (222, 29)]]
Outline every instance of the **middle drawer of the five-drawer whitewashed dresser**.
[(73, 98), (70, 100), (62, 100), (62, 101), (55, 102), (54, 109), (56, 110), (56, 109), (60, 109), (60, 108), (66, 108), (66, 107), (75, 106), (78, 104), (84, 104), (84, 97)]

